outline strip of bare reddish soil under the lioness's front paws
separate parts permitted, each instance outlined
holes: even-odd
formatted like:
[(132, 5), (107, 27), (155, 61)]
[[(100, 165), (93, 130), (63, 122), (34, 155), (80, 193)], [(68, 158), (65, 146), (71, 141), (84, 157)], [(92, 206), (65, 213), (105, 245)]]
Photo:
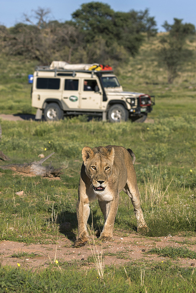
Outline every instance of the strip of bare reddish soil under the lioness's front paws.
[[(170, 258), (158, 257), (158, 255), (145, 254), (149, 249), (157, 247), (162, 248), (165, 246), (181, 247), (186, 246), (185, 241), (189, 241), (188, 248), (196, 249), (196, 237), (182, 237), (182, 236), (168, 236), (158, 238), (147, 238), (140, 236), (137, 233), (129, 234), (128, 237), (115, 236), (113, 242), (99, 243), (95, 246), (95, 253), (103, 250), (104, 264), (105, 265), (123, 265), (126, 263), (135, 263), (149, 261), (149, 262), (165, 262)], [(193, 244), (191, 244), (193, 243)], [(47, 268), (50, 262), (54, 263), (54, 259), (59, 262), (65, 261), (81, 261), (85, 260), (88, 263), (88, 267), (93, 267), (95, 264), (88, 260), (88, 257), (92, 256), (93, 244), (87, 244), (81, 248), (73, 247), (73, 242), (64, 236), (59, 236), (57, 244), (26, 244), (23, 242), (13, 241), (1, 241), (0, 242), (0, 254), (1, 254), (1, 265), (9, 265), (17, 267), (17, 263), (25, 268)], [(35, 258), (14, 258), (11, 257), (14, 253), (37, 253), (38, 257)], [(110, 254), (110, 255), (108, 255)], [(112, 255), (111, 255), (112, 254)], [(120, 258), (123, 255), (123, 258)], [(93, 258), (92, 258), (93, 259)], [(196, 266), (196, 260), (190, 259), (178, 259), (173, 260), (173, 263), (178, 263), (184, 267)]]

